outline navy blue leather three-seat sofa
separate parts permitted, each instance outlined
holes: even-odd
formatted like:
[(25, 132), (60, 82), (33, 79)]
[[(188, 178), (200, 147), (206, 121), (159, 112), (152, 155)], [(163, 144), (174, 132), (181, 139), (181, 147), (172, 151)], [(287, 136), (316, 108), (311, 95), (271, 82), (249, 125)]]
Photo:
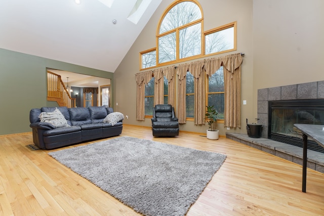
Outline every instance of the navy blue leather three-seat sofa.
[(54, 149), (84, 141), (114, 137), (121, 134), (123, 120), (112, 125), (103, 122), (113, 112), (111, 107), (57, 107), (70, 126), (54, 127), (48, 122), (40, 122), (39, 114), (53, 112), (56, 107), (42, 107), (30, 110), (29, 120), (33, 143), (41, 149)]

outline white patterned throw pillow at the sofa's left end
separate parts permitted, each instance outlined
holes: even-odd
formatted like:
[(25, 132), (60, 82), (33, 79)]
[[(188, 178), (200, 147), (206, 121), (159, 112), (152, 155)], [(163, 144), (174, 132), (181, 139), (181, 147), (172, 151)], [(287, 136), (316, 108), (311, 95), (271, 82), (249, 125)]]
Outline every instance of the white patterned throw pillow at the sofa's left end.
[(39, 114), (41, 122), (48, 122), (54, 125), (54, 127), (69, 127), (64, 115), (57, 108), (53, 112), (42, 112)]

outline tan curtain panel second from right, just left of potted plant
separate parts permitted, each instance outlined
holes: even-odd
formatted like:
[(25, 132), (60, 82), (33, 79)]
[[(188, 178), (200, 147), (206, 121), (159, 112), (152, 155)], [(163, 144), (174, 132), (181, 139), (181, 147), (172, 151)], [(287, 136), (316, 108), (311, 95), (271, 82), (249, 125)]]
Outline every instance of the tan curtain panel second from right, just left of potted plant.
[(205, 61), (195, 61), (189, 64), (189, 72), (194, 77), (194, 124), (205, 124), (205, 75), (203, 72)]

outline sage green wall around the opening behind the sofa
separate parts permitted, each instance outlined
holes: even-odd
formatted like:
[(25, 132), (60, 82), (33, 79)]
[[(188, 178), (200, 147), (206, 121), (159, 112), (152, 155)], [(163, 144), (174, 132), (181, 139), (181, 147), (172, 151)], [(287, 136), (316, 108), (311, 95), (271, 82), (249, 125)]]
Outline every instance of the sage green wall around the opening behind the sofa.
[(0, 49), (0, 135), (31, 132), (29, 111), (53, 106), (47, 101), (47, 68), (111, 79), (113, 73)]

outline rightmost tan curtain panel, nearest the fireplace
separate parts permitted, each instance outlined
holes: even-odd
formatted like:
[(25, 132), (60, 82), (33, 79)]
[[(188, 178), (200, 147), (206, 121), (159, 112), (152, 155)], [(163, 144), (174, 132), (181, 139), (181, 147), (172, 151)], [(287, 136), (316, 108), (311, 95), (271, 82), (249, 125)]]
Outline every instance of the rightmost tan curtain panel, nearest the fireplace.
[(223, 57), (225, 85), (224, 127), (241, 127), (241, 54)]

